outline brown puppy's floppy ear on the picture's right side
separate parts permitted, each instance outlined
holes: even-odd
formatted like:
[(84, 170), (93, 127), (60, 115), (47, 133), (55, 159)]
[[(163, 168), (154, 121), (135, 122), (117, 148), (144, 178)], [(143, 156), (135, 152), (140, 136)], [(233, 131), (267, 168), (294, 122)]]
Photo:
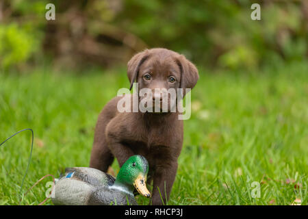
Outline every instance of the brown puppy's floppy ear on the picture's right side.
[(199, 79), (198, 70), (184, 55), (179, 55), (176, 61), (181, 70), (180, 88), (183, 88), (185, 96), (185, 88), (192, 89), (196, 85)]

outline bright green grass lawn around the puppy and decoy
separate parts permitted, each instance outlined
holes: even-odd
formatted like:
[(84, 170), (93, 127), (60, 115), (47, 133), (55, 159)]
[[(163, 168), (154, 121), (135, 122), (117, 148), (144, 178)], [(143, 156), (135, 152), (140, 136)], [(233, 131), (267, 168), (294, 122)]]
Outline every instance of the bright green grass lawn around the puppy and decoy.
[[(307, 205), (308, 65), (200, 75), (168, 204), (290, 205), (300, 198)], [(23, 192), (44, 175), (88, 166), (97, 116), (128, 86), (123, 69), (78, 77), (48, 70), (0, 74), (0, 142), (25, 128), (35, 134)], [(20, 201), (30, 140), (30, 132), (21, 133), (0, 148), (0, 205)], [(21, 205), (43, 201), (47, 181)], [(251, 196), (254, 181), (261, 183), (260, 198)]]

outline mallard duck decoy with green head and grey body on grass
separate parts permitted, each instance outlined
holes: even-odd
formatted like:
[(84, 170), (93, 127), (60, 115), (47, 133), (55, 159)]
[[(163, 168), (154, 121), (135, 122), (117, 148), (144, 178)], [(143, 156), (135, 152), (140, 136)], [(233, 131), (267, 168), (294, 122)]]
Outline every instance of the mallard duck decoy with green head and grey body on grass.
[(137, 205), (135, 188), (143, 196), (151, 196), (146, 188), (148, 171), (142, 155), (129, 157), (116, 179), (94, 168), (66, 168), (55, 183), (51, 200), (55, 205)]

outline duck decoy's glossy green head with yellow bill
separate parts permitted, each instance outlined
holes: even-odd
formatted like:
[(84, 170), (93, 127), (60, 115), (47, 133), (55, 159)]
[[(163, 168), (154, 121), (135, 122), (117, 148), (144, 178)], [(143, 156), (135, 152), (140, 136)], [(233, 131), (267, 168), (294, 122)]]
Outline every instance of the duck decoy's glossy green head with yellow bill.
[(133, 185), (142, 196), (150, 197), (151, 193), (146, 188), (146, 177), (149, 164), (142, 155), (133, 155), (127, 159), (118, 172), (116, 183)]

